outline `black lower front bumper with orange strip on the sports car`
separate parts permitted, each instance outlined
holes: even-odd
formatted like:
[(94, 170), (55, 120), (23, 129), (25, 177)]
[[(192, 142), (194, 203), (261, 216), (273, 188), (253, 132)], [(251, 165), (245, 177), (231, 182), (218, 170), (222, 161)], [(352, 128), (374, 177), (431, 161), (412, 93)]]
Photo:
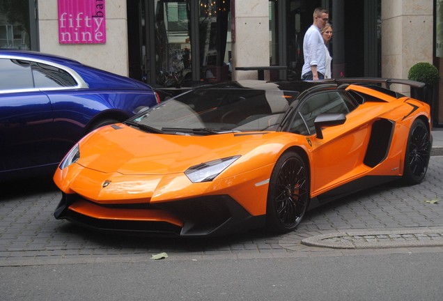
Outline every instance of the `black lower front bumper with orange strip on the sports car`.
[(95, 231), (153, 236), (220, 236), (265, 225), (265, 215), (250, 215), (227, 195), (201, 196), (164, 203), (102, 205), (64, 194), (56, 219)]

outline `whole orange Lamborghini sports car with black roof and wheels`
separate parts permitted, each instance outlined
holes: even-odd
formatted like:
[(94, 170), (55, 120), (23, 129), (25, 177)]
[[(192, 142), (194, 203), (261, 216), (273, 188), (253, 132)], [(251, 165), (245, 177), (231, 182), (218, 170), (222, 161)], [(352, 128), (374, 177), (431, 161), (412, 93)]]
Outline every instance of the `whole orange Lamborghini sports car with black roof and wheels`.
[(54, 175), (57, 219), (98, 231), (284, 233), (367, 187), (420, 183), (430, 107), (401, 79), (201, 86), (81, 139)]

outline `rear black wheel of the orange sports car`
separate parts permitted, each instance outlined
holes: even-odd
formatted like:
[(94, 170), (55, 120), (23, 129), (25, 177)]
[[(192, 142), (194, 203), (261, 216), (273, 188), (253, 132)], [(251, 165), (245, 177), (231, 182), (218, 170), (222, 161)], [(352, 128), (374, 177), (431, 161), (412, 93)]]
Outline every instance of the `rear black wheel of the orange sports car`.
[(412, 123), (405, 153), (403, 183), (415, 185), (421, 183), (428, 170), (430, 158), (430, 135), (421, 119)]

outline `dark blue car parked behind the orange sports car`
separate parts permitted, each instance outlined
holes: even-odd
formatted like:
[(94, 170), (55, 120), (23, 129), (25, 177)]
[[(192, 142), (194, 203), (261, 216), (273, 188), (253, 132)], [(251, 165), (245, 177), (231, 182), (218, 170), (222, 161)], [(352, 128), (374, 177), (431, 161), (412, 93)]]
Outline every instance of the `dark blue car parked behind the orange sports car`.
[(85, 134), (159, 101), (147, 84), (72, 59), (0, 50), (0, 181), (54, 173)]

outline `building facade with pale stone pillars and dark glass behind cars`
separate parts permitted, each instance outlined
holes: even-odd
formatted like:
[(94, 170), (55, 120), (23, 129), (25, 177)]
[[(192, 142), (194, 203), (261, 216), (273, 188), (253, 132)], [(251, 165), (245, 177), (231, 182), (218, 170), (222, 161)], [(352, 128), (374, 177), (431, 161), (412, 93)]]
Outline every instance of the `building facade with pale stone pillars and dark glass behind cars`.
[[(443, 0), (75, 1), (95, 7), (91, 17), (69, 2), (0, 0), (0, 48), (68, 56), (153, 86), (254, 79), (256, 70), (236, 68), (270, 65), (279, 68), (265, 70), (265, 79), (300, 79), (302, 38), (321, 6), (334, 30), (334, 77), (406, 79), (421, 61), (443, 70)], [(105, 39), (93, 40), (84, 30), (98, 19)], [(440, 125), (442, 79), (436, 90)]]

